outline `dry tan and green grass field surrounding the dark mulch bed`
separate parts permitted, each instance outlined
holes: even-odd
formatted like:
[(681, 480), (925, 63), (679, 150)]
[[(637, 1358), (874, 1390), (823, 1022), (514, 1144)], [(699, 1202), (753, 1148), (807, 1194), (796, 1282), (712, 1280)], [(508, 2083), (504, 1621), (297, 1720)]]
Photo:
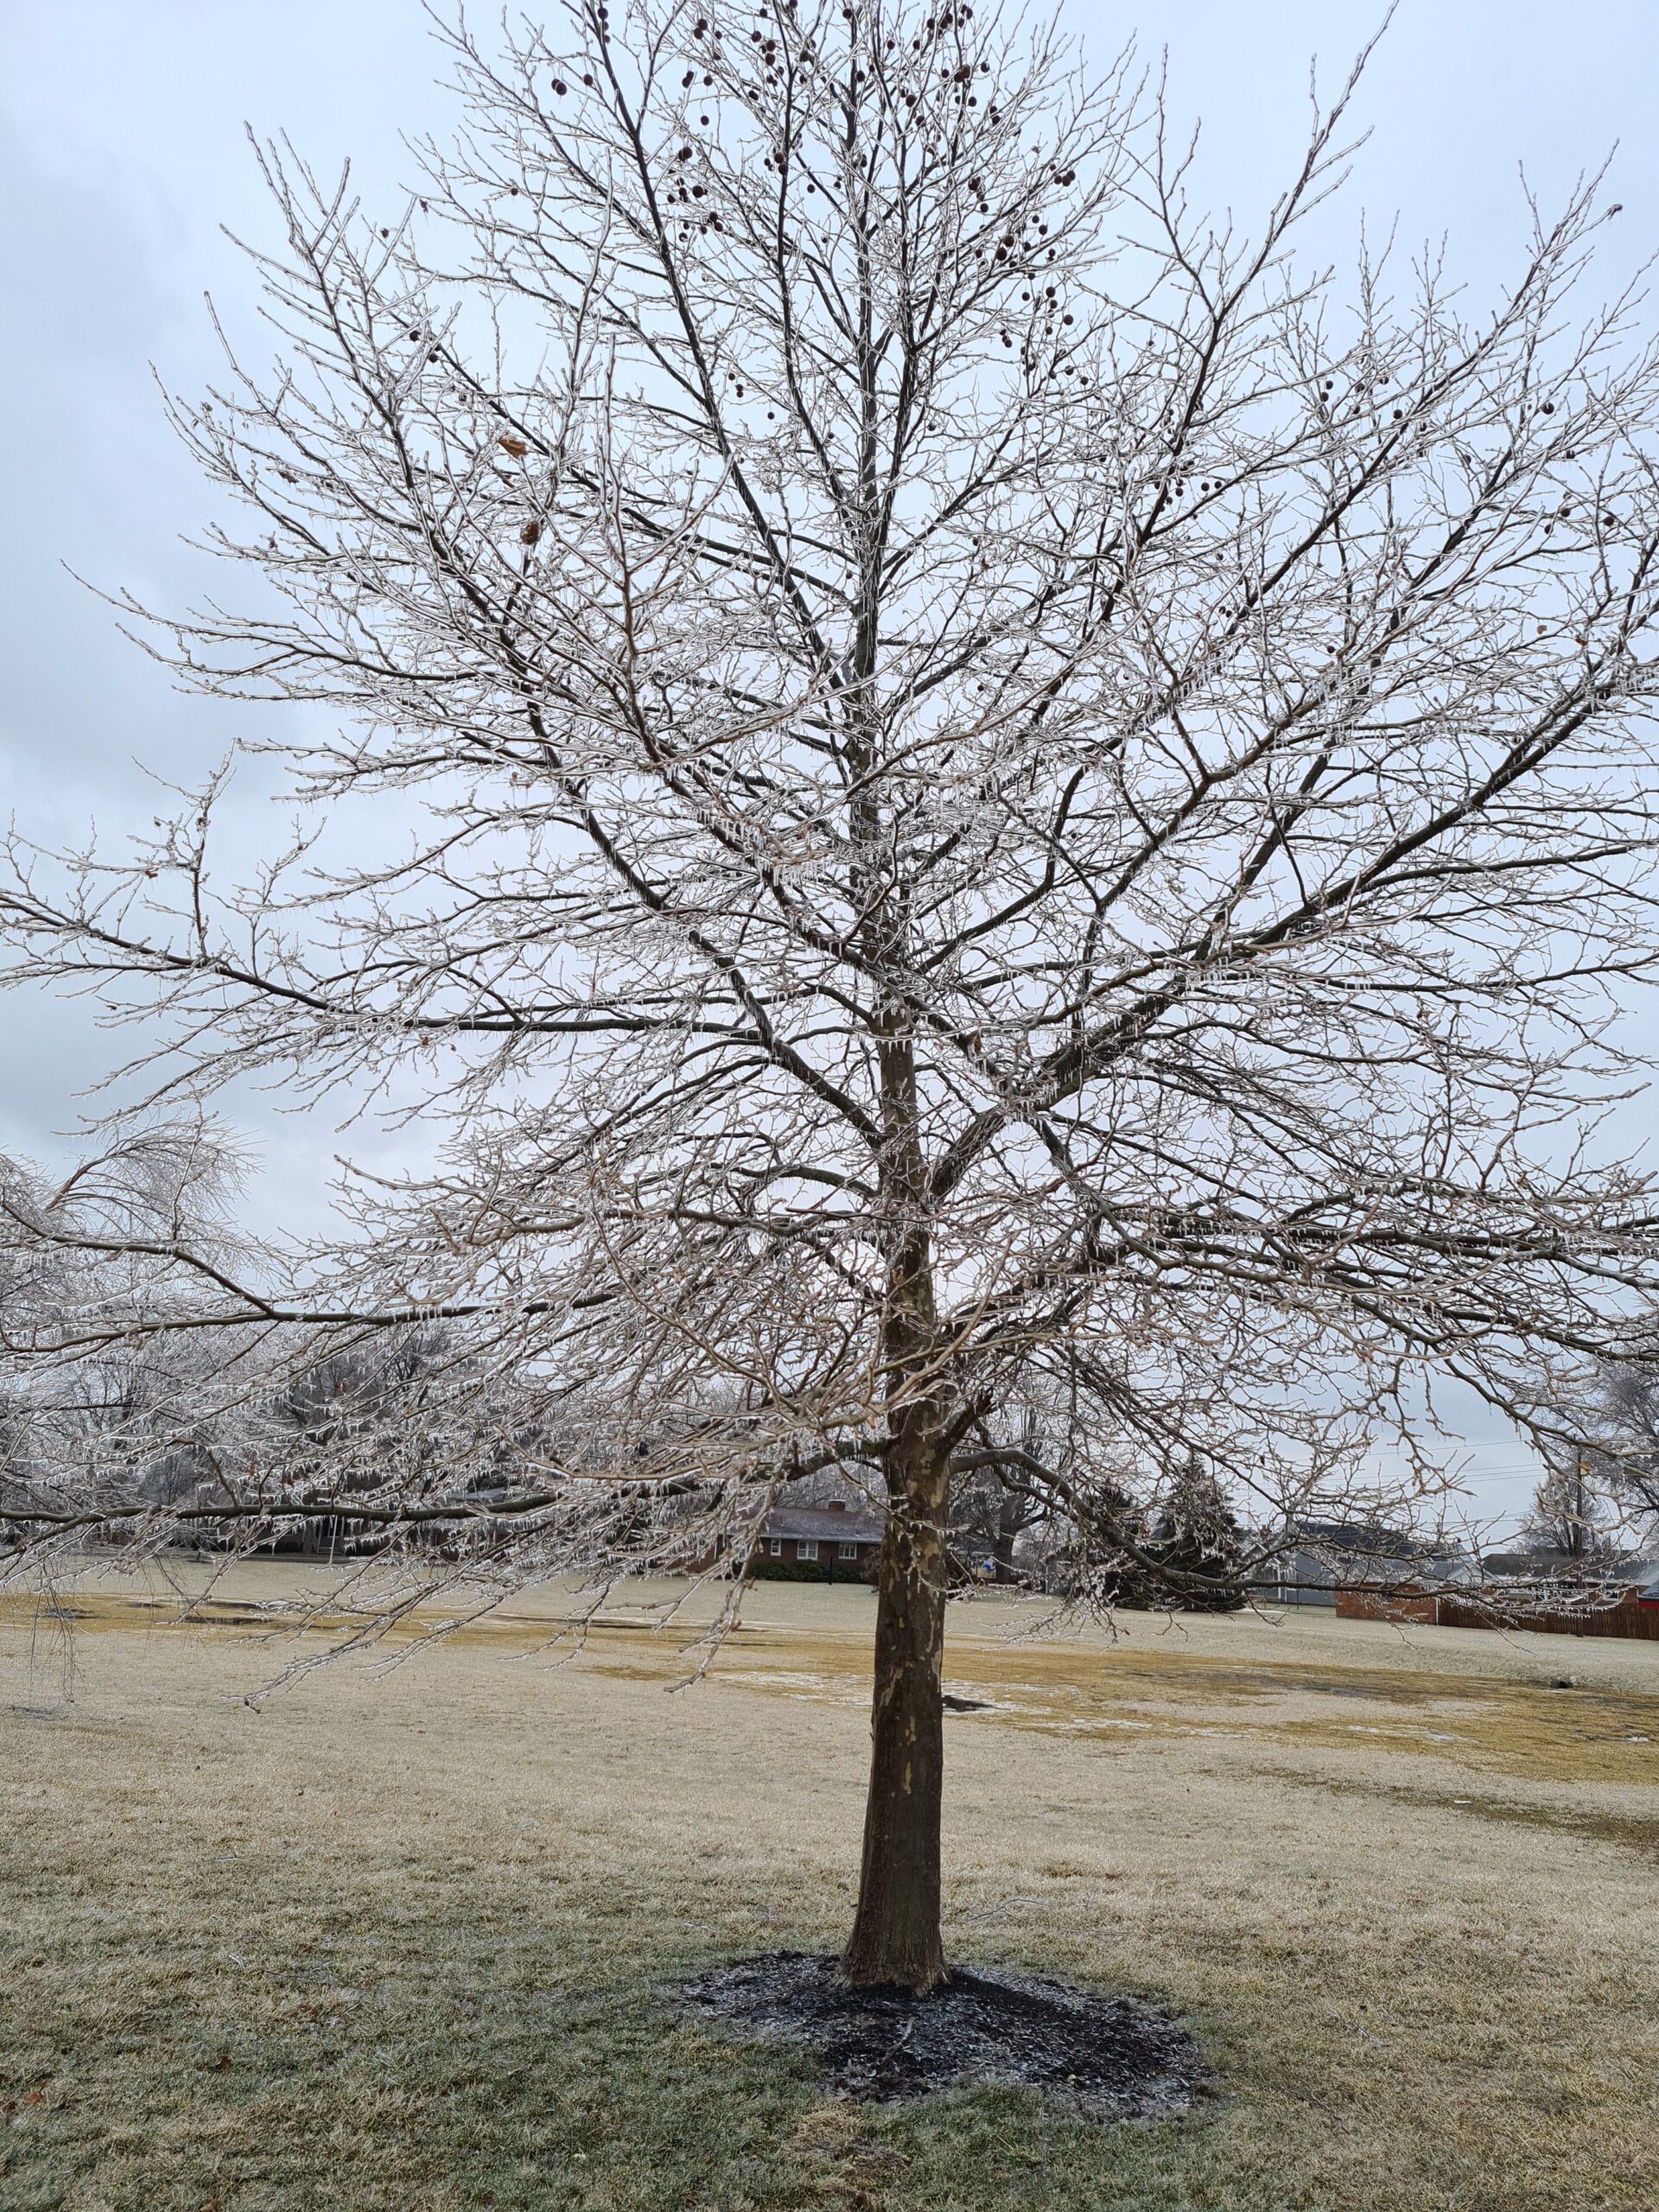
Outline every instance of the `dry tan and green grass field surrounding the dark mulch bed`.
[(675, 1697), (695, 1624), (571, 1650), (553, 1590), (254, 1710), (292, 1584), (0, 1601), (7, 2212), (1659, 2203), (1659, 1646), (953, 1608), (951, 1953), (1157, 1995), (1225, 2079), (1099, 2132), (858, 2112), (655, 1993), (843, 1931), (867, 1593), (759, 1586)]

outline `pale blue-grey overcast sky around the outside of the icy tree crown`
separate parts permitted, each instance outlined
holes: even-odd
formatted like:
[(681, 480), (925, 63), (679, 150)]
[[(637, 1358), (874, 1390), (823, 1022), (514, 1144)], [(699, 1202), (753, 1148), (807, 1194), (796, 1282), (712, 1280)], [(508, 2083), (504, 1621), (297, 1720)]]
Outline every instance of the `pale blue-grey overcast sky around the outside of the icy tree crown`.
[[(1310, 62), (1334, 86), (1383, 7), (1073, 0), (1064, 18), (1099, 60), (1130, 35), (1168, 49), (1175, 115), (1203, 117), (1203, 195), (1250, 226), (1298, 155)], [(188, 781), (252, 712), (175, 697), (66, 575), (150, 604), (201, 586), (181, 538), (206, 498), (155, 376), (195, 392), (215, 374), (204, 292), (250, 325), (219, 228), (272, 239), (246, 126), (285, 131), (321, 170), (349, 155), (365, 195), (394, 206), (411, 166), (400, 133), (442, 131), (453, 104), (418, 0), (0, 0), (0, 816), (69, 836), (91, 816), (146, 823), (157, 807), (135, 763)], [(1613, 155), (1613, 285), (1659, 246), (1657, 97), (1657, 0), (1402, 0), (1356, 111), (1371, 137), (1321, 246), (1398, 217), (1405, 246), (1444, 237), (1484, 299), (1517, 265), (1522, 168), (1548, 208)], [(60, 1150), (111, 1037), (84, 1006), (0, 1000), (0, 1146)], [(237, 1113), (265, 1164), (257, 1214), (312, 1219), (345, 1139), (261, 1099)], [(376, 1139), (349, 1144), (363, 1157)], [(1520, 1444), (1473, 1416), (1469, 1440), (1482, 1502), (1509, 1511), (1533, 1480)]]

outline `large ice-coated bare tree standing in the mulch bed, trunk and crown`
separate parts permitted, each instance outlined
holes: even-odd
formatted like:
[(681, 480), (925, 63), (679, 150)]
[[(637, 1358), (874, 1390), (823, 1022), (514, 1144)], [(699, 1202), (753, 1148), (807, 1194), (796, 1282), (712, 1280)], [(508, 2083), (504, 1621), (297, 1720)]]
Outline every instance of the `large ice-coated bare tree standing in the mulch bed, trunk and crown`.
[(1599, 179), (1489, 312), (1298, 268), (1352, 84), (1245, 239), (1126, 64), (995, 4), (449, 44), (407, 208), (263, 155), (279, 361), (177, 407), (259, 588), (155, 650), (314, 710), (294, 847), (226, 885), (219, 781), (131, 863), (15, 845), (15, 973), (166, 1040), (148, 1110), (442, 1128), (332, 1254), (150, 1290), (462, 1332), (542, 1407), (518, 1573), (885, 1491), (845, 1969), (927, 1989), (953, 1480), (1117, 1571), (1197, 1453), (1250, 1579), (1433, 1484), (1427, 1376), (1524, 1411), (1652, 1292), (1575, 1130), (1655, 958), (1659, 363), (1573, 307)]

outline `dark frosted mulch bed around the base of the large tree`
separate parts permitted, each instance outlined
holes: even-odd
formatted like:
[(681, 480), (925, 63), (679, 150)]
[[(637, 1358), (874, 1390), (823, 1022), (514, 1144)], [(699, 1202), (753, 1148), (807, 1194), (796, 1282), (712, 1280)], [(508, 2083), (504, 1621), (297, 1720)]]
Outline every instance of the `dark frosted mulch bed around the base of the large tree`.
[(1040, 2088), (1088, 2119), (1161, 2119), (1208, 2086), (1188, 2031), (1135, 1997), (956, 1971), (945, 1989), (849, 1989), (836, 1960), (770, 1951), (675, 1989), (695, 2020), (799, 2044), (867, 2104), (978, 2081)]

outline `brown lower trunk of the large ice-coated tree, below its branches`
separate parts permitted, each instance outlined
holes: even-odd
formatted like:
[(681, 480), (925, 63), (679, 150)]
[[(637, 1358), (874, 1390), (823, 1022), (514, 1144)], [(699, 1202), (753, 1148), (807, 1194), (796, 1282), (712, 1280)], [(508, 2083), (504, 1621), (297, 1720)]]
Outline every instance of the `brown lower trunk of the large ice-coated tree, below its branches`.
[[(940, 1942), (945, 1792), (945, 1500), (936, 1444), (896, 1453), (876, 1599), (876, 1694), (858, 1911), (841, 1966), (849, 1982), (929, 1991), (947, 1980)], [(896, 1480), (898, 1478), (898, 1480)]]

